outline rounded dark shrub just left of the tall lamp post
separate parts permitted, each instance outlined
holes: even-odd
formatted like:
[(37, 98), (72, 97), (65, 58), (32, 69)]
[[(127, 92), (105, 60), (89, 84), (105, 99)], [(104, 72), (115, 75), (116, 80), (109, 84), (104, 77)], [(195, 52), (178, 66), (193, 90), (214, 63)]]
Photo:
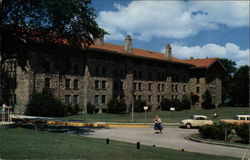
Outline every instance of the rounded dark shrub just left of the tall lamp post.
[(108, 102), (108, 113), (113, 113), (113, 114), (125, 113), (126, 108), (127, 106), (123, 99), (119, 101), (118, 99), (113, 98)]

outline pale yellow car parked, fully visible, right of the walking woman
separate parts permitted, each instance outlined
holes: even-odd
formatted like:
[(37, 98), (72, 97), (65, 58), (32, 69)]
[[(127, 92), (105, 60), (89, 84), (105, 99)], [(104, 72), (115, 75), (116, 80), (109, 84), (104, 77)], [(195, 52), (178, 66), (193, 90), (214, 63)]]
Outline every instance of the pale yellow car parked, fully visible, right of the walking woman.
[(203, 115), (193, 115), (190, 119), (184, 119), (181, 121), (180, 127), (192, 128), (205, 125), (212, 125), (213, 121)]

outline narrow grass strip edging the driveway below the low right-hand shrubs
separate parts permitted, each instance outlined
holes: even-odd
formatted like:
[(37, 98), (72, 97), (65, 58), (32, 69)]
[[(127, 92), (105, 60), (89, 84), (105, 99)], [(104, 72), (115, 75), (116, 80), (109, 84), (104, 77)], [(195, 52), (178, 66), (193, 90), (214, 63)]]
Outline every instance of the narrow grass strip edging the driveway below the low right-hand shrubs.
[(202, 140), (202, 141), (206, 141), (206, 142), (212, 142), (212, 143), (220, 143), (223, 145), (237, 145), (237, 146), (241, 146), (241, 147), (248, 147), (249, 144), (243, 144), (243, 143), (237, 143), (237, 142), (229, 142), (229, 141), (223, 141), (223, 140), (215, 140), (215, 139), (207, 139), (207, 138), (202, 138), (200, 136), (200, 134), (192, 134), (191, 135), (192, 138), (197, 139), (197, 140)]

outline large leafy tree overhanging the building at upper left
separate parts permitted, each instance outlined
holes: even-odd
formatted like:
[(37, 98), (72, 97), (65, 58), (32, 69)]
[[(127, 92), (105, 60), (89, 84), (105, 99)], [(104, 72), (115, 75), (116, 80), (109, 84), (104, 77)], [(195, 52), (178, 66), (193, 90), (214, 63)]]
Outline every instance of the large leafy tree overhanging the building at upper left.
[[(1, 1), (0, 13), (1, 84), (7, 83), (8, 78), (3, 74), (5, 61), (15, 59), (17, 65), (25, 70), (30, 58), (28, 51), (37, 41), (51, 47), (66, 40), (71, 47), (88, 48), (95, 39), (106, 34), (95, 21), (91, 0), (4, 0)], [(60, 52), (57, 57), (68, 59), (66, 54)], [(9, 99), (3, 98), (3, 95), (8, 94), (10, 89), (1, 86), (0, 101)], [(3, 90), (6, 92), (3, 93)]]

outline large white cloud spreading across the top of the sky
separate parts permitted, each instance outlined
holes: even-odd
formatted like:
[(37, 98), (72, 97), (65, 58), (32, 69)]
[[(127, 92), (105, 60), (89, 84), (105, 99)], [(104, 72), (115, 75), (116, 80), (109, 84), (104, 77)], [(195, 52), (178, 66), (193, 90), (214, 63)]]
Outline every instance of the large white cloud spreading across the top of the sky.
[(249, 26), (248, 1), (132, 1), (128, 6), (114, 4), (116, 10), (102, 11), (97, 22), (110, 33), (109, 40), (185, 38), (202, 30)]

